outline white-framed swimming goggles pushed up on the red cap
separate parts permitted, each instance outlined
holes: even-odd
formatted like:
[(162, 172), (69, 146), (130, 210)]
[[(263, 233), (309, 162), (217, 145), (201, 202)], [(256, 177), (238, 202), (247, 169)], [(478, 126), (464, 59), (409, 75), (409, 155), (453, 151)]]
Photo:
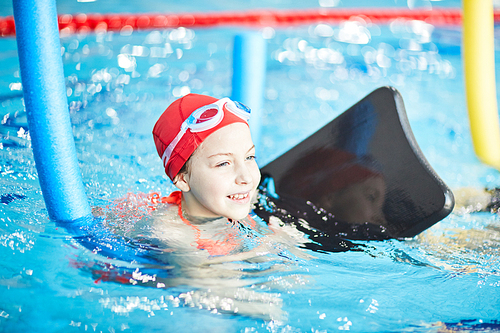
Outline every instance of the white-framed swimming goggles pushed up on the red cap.
[(191, 115), (181, 124), (181, 129), (176, 137), (170, 142), (163, 153), (163, 165), (166, 166), (175, 147), (189, 129), (191, 133), (208, 131), (219, 125), (224, 118), (224, 109), (230, 111), (247, 123), (250, 120), (250, 108), (240, 102), (235, 102), (225, 97), (217, 102), (202, 106), (191, 113)]

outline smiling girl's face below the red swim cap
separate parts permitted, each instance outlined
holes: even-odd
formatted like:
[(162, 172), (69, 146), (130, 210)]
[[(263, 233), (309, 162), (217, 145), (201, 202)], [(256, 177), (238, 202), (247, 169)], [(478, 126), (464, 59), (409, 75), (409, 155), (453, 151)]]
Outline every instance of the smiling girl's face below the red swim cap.
[(234, 220), (248, 215), (260, 170), (246, 124), (234, 123), (212, 133), (193, 153), (187, 169), (174, 179), (183, 191), (187, 214)]

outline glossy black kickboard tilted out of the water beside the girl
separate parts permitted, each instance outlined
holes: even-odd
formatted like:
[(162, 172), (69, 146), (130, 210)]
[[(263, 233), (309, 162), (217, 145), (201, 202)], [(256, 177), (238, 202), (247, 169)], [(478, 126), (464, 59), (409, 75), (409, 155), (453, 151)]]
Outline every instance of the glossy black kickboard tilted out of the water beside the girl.
[[(307, 222), (327, 232), (335, 231), (332, 221), (343, 221), (355, 231), (362, 224), (382, 225), (388, 238), (413, 237), (454, 206), (451, 190), (422, 154), (403, 99), (392, 87), (373, 91), (261, 172), (261, 190), (266, 187), (275, 203), (286, 201), (287, 210), (295, 212), (304, 211), (304, 203), (314, 207), (326, 222)], [(256, 213), (262, 216), (263, 209)], [(299, 217), (308, 220), (307, 213)], [(354, 237), (363, 238), (377, 239)]]

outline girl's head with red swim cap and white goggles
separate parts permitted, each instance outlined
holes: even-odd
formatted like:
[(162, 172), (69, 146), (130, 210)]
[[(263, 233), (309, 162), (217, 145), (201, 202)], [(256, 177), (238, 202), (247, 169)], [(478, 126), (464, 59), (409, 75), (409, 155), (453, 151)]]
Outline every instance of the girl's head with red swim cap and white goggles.
[(260, 181), (250, 110), (228, 98), (189, 94), (170, 105), (153, 137), (186, 214), (244, 219)]

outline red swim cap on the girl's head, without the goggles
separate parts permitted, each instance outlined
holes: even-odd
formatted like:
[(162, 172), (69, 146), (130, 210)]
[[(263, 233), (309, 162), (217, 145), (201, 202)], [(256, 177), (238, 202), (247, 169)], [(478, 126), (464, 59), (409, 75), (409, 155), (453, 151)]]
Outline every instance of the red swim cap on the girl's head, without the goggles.
[[(204, 106), (214, 104), (217, 101), (216, 98), (210, 96), (188, 94), (170, 104), (156, 122), (153, 128), (153, 138), (155, 140), (156, 150), (163, 160), (165, 173), (171, 180), (174, 179), (196, 148), (198, 148), (210, 134), (224, 126), (236, 122), (248, 125), (245, 119), (232, 112), (228, 112), (226, 107), (217, 109), (217, 106), (214, 106), (213, 108), (207, 108), (203, 114), (210, 112), (213, 114), (214, 112), (222, 111), (222, 120), (216, 122), (213, 127), (206, 130), (191, 131), (191, 129), (188, 128), (185, 133), (181, 133), (182, 125), (194, 111)], [(210, 116), (212, 116), (212, 114), (210, 114)], [(202, 119), (198, 120), (197, 123), (203, 122), (203, 116), (201, 116), (201, 118)], [(170, 147), (170, 155), (168, 158), (165, 158), (165, 150), (174, 140), (178, 140), (178, 142), (174, 143), (173, 147)]]

